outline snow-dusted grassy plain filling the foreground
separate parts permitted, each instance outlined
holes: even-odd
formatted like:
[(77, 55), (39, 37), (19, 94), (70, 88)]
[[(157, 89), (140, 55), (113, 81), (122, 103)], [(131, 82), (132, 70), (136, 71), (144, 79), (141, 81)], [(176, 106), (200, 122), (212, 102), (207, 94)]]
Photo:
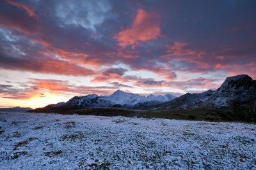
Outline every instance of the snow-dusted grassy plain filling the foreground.
[(256, 169), (256, 125), (0, 114), (0, 169)]

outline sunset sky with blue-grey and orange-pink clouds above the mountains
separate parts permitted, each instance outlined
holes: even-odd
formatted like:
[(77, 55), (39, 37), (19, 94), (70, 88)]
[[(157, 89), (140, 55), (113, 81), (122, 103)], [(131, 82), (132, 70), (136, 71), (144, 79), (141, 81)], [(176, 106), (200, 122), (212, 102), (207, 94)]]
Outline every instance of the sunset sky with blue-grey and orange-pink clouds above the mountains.
[(256, 79), (256, 1), (0, 1), (0, 108)]

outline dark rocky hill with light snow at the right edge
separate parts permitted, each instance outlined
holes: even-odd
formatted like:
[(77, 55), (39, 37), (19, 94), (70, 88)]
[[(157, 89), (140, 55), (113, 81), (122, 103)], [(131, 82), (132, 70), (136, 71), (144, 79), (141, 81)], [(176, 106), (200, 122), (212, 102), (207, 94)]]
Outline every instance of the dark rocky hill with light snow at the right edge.
[(194, 109), (207, 106), (229, 120), (256, 120), (256, 81), (246, 74), (228, 77), (216, 91), (184, 94), (159, 104), (154, 110)]

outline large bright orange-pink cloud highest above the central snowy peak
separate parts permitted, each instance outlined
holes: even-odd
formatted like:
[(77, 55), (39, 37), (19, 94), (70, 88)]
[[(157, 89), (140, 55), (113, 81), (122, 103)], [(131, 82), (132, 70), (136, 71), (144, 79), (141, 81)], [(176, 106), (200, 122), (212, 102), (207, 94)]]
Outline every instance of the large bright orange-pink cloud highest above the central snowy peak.
[(140, 42), (157, 39), (160, 36), (159, 15), (138, 10), (131, 27), (119, 32), (114, 38), (120, 46), (138, 45)]

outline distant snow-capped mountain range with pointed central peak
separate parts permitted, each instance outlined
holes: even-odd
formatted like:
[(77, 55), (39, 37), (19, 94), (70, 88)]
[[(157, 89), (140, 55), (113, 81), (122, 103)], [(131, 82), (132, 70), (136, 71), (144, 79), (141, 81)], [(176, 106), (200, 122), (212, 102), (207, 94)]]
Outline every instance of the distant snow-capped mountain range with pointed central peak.
[(81, 108), (95, 107), (116, 107), (116, 108), (132, 108), (132, 109), (148, 109), (157, 104), (164, 103), (175, 99), (175, 96), (166, 94), (164, 96), (140, 96), (116, 90), (109, 96), (98, 96), (97, 94), (89, 94), (87, 96), (75, 96), (66, 103), (49, 104), (44, 108), (37, 108), (35, 112), (49, 112), (60, 110), (76, 110)]

